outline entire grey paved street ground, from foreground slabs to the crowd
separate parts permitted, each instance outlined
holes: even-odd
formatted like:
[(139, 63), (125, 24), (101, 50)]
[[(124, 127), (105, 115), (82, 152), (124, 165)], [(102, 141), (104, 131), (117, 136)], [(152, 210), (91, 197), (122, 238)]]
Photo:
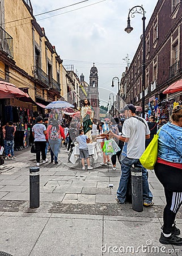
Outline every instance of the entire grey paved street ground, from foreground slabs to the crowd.
[[(155, 206), (138, 213), (132, 204), (115, 201), (120, 168), (73, 168), (61, 148), (62, 163), (41, 164), (40, 207), (29, 209), (29, 167), (36, 163), (29, 151), (16, 152), (17, 159), (0, 168), (0, 251), (13, 256), (182, 255), (181, 247), (159, 243), (165, 200), (153, 171)], [(176, 222), (182, 230), (181, 210)]]

